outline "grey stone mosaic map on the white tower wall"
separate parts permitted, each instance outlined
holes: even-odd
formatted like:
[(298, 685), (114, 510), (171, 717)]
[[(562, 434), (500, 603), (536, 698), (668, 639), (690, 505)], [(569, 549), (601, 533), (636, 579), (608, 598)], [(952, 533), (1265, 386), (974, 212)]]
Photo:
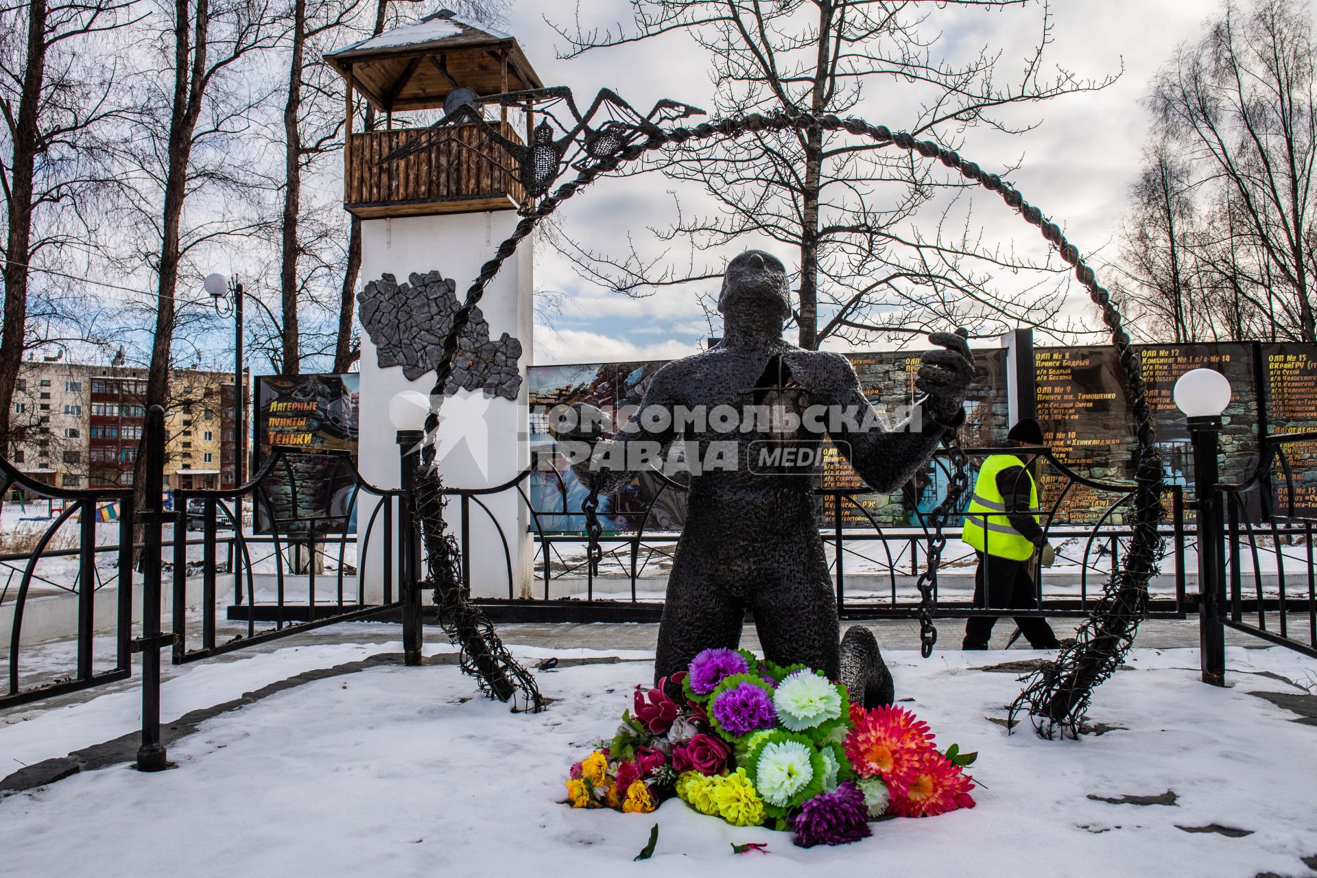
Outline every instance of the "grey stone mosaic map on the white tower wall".
[[(457, 282), (439, 271), (412, 272), (407, 283), (391, 274), (371, 280), (357, 296), (361, 325), (375, 344), (382, 367), (402, 366), (407, 380), (435, 369), (444, 353), (444, 338), (457, 313)], [(516, 361), (522, 342), (507, 333), (490, 340), (490, 325), (477, 307), (466, 332), (458, 340), (457, 362), (444, 387), (445, 395), (458, 388), (483, 390), (493, 396), (515, 400), (522, 387)]]

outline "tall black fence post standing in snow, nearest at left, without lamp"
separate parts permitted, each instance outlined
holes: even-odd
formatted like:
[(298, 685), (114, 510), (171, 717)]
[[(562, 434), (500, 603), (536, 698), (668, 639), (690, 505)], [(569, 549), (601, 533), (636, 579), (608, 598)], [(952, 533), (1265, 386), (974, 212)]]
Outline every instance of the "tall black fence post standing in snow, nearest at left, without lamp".
[[(142, 540), (142, 637), (134, 646), (142, 653), (142, 744), (137, 748), (138, 771), (167, 769), (165, 745), (161, 744), (161, 527), (165, 511), (165, 409), (146, 409), (144, 440), (146, 453), (146, 503), (140, 515), (146, 525)], [(175, 537), (176, 538), (176, 537)], [(173, 638), (170, 638), (173, 642)]]

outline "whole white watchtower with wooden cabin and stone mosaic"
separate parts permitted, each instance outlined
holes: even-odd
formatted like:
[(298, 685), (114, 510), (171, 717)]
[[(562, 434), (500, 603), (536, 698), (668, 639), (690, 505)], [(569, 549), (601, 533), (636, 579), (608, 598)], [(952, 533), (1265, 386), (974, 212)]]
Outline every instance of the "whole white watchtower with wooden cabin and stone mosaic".
[[(452, 312), (481, 266), (512, 232), (525, 196), (516, 159), (479, 126), (456, 125), (429, 136), (424, 124), (436, 113), (415, 120), (411, 128), (395, 128), (394, 113), (441, 109), (450, 96), (461, 100), (465, 92), (453, 93), (458, 90), (483, 96), (539, 88), (541, 83), (516, 39), (446, 9), (353, 43), (325, 61), (348, 83), (344, 208), (361, 220), (360, 469), (373, 484), (398, 487), (399, 457), (389, 403), (407, 390), (429, 395)], [(354, 133), (361, 128), (360, 120), (353, 120), (354, 93), (369, 101), (382, 125)], [(531, 125), (529, 112), (510, 120), (507, 108), (499, 117), (486, 118), (519, 143)], [(429, 137), (424, 149), (381, 161), (421, 137)], [(474, 336), (460, 351), (448, 383), (440, 433), (440, 470), (448, 487), (500, 484), (528, 462), (525, 370), (533, 350), (532, 290), (527, 245), (485, 288), (479, 304), (483, 320), (473, 319)], [(525, 504), (515, 490), (479, 500), (489, 512), (473, 502), (466, 524), (471, 596), (508, 598), (510, 566), (511, 596), (528, 596), (533, 544)], [(373, 500), (363, 495), (358, 534), (371, 511)], [(460, 537), (456, 499), (446, 517)], [(381, 598), (382, 548), (377, 521), (361, 570), (367, 602)]]

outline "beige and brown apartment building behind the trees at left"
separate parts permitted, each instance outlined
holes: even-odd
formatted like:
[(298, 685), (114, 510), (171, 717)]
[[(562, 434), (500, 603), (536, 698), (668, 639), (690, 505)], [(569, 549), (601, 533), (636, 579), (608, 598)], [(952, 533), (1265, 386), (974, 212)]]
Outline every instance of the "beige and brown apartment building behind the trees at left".
[[(9, 459), (22, 473), (59, 487), (129, 486), (145, 400), (145, 369), (26, 361), (14, 392), (17, 425)], [(233, 487), (233, 415), (232, 373), (170, 373), (166, 488)]]

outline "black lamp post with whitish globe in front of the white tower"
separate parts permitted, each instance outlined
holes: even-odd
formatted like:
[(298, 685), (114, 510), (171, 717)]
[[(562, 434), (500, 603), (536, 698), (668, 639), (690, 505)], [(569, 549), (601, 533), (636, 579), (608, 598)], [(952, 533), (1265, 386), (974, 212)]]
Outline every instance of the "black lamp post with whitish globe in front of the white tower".
[(398, 503), (398, 594), (403, 604), (403, 663), (421, 663), (420, 631), (420, 533), (412, 516), (416, 502), (416, 475), (420, 470), (419, 445), (424, 438), (429, 398), (414, 390), (389, 400), (389, 420), (398, 430), (398, 463), (402, 498)]

